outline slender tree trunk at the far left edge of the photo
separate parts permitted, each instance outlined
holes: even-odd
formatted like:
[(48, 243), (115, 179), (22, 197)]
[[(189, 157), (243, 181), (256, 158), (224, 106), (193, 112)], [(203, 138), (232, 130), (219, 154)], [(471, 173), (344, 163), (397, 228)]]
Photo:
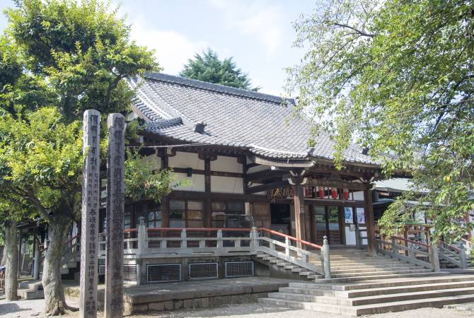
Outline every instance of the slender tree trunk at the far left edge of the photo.
[(16, 221), (5, 223), (5, 298), (18, 300), (18, 246), (16, 242)]

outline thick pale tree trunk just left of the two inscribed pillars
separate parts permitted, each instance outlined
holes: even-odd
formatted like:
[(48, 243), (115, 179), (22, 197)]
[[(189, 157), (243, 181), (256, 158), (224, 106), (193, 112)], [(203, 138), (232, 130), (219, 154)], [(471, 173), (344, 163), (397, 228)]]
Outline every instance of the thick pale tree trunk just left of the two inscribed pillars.
[(69, 219), (60, 217), (53, 218), (50, 226), (50, 243), (45, 251), (42, 285), (45, 292), (45, 314), (48, 316), (57, 316), (69, 310), (64, 300), (64, 289), (62, 287), (60, 273), (64, 242), (67, 240), (67, 232), (69, 230)]

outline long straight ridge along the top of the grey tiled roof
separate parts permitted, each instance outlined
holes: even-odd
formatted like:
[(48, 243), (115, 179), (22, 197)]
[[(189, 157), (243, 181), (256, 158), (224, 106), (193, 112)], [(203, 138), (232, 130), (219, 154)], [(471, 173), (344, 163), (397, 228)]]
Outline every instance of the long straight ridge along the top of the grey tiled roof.
[(224, 93), (229, 95), (235, 95), (244, 98), (252, 98), (255, 100), (265, 100), (267, 102), (275, 102), (282, 104), (283, 102), (289, 102), (295, 104), (294, 98), (282, 98), (275, 95), (258, 93), (253, 90), (244, 90), (243, 88), (235, 88), (231, 86), (225, 86), (216, 83), (208, 83), (200, 80), (184, 78), (181, 76), (174, 76), (165, 73), (144, 73), (144, 78), (153, 79), (156, 81), (163, 81), (167, 83), (179, 84), (184, 86), (190, 86), (193, 88), (199, 88), (203, 90), (211, 90), (216, 93)]

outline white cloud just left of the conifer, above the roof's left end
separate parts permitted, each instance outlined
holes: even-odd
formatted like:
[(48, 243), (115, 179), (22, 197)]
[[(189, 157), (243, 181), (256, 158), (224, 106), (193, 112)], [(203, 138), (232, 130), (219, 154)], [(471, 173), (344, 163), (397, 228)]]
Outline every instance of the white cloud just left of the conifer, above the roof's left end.
[(150, 25), (144, 25), (142, 20), (144, 19), (137, 17), (131, 21), (132, 39), (136, 40), (138, 45), (155, 49), (156, 59), (164, 73), (178, 74), (187, 59), (209, 46), (207, 42), (190, 40), (185, 35), (173, 30), (160, 30), (152, 28)]

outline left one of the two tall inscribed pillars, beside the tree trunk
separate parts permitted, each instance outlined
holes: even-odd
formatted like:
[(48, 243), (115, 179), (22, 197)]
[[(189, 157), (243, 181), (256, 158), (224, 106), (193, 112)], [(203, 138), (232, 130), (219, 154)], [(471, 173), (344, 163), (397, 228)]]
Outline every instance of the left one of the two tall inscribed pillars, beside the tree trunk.
[[(100, 112), (83, 115), (83, 184), (79, 317), (97, 317)], [(46, 242), (46, 240), (45, 240)]]

